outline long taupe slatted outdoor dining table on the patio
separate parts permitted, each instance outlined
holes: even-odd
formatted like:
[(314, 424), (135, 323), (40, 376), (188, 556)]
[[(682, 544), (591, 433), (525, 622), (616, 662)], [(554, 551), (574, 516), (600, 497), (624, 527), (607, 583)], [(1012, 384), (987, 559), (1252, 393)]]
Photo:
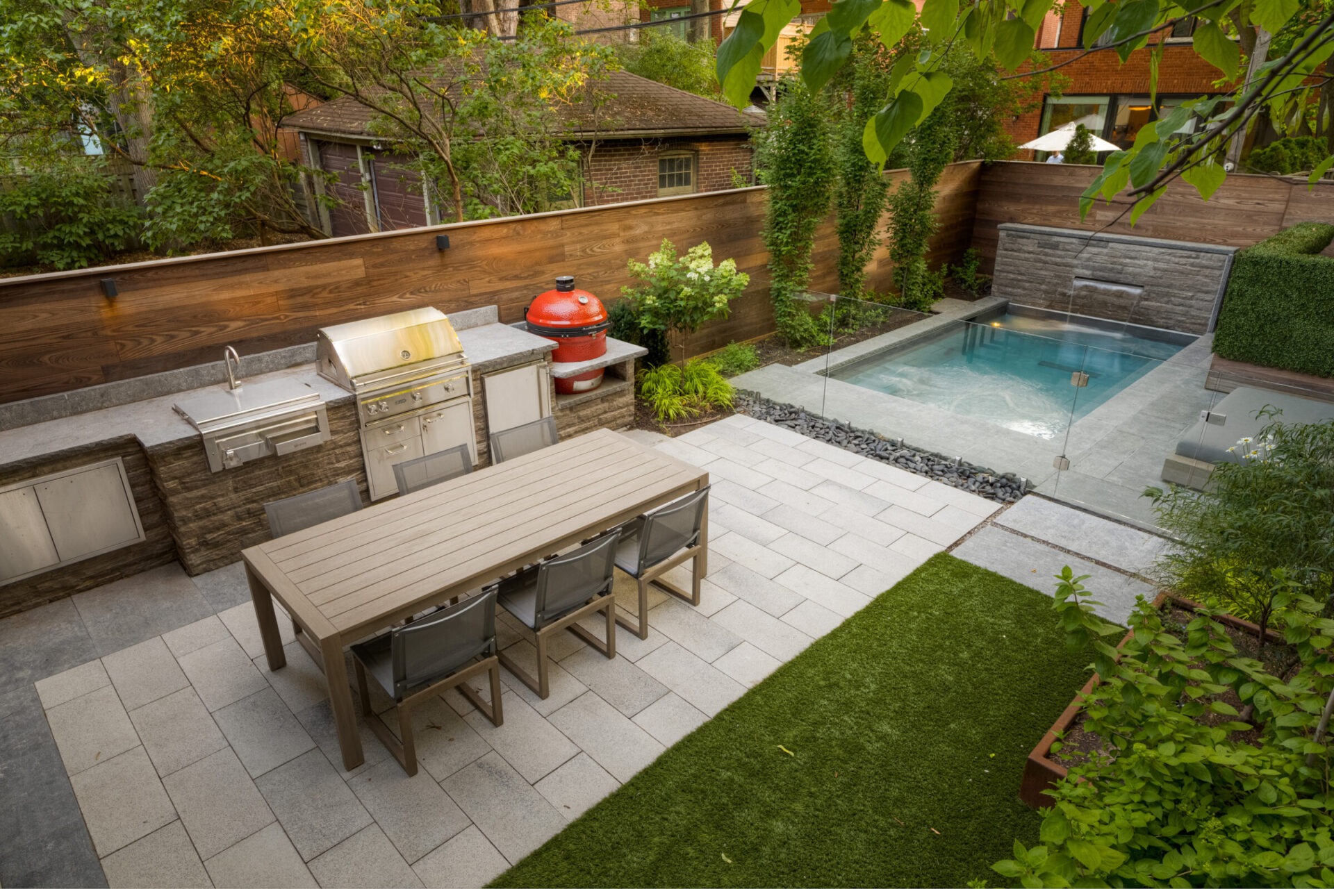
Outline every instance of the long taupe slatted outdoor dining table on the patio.
[(355, 769), (348, 645), (706, 485), (703, 469), (599, 429), (251, 546), (241, 558), (268, 666), (287, 664), (276, 598), (324, 670)]

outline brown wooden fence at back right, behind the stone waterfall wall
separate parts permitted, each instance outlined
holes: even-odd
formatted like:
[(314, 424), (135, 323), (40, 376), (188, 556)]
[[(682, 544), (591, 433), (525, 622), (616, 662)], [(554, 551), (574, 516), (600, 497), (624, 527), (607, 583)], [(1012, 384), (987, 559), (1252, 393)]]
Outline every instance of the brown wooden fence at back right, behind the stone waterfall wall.
[(1081, 221), (1079, 195), (1097, 175), (1097, 167), (1083, 165), (1002, 161), (986, 167), (972, 245), (984, 257), (987, 271), (995, 261), (1002, 223), (1250, 247), (1297, 223), (1334, 221), (1334, 183), (1321, 181), (1307, 189), (1305, 177), (1241, 173), (1229, 176), (1207, 203), (1191, 185), (1174, 181), (1134, 228), (1125, 212), (1131, 201), (1125, 197), (1110, 205), (1099, 199)]

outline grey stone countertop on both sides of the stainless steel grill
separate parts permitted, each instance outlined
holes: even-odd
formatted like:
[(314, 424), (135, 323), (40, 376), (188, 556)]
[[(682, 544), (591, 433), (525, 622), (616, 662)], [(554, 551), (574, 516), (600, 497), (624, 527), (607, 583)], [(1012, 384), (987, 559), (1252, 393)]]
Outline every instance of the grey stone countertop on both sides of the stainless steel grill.
[[(472, 369), (479, 372), (522, 364), (556, 348), (551, 340), (504, 324), (482, 324), (458, 333)], [(351, 392), (319, 376), (313, 363), (245, 377), (243, 384), (281, 379), (293, 379), (309, 385), (329, 405), (352, 399)], [(56, 456), (127, 435), (136, 436), (144, 448), (197, 439), (195, 428), (176, 413), (172, 405), (211, 388), (215, 387), (173, 392), (156, 399), (5, 429), (0, 432), (0, 468), (43, 456)]]

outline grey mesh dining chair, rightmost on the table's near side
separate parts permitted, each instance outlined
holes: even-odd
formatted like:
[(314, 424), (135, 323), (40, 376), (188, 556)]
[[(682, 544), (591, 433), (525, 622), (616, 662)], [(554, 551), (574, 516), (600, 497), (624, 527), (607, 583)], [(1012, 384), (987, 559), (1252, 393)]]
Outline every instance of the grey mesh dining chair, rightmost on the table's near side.
[[(700, 558), (704, 546), (699, 542), (700, 528), (708, 510), (708, 486), (672, 501), (620, 526), (616, 545), (616, 568), (639, 582), (639, 614), (631, 620), (616, 614), (616, 621), (639, 638), (648, 638), (648, 586), (652, 584), (691, 605), (699, 605)], [(687, 560), (690, 592), (663, 577)]]

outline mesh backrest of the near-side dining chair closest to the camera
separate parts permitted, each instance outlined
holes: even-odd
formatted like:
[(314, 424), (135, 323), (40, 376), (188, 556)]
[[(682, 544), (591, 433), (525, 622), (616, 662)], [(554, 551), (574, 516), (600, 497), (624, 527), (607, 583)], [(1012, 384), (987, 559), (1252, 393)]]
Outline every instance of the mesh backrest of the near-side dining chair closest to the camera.
[(414, 686), (444, 678), (478, 654), (495, 654), (495, 644), (494, 589), (431, 617), (395, 628), (395, 700), (402, 701)]

